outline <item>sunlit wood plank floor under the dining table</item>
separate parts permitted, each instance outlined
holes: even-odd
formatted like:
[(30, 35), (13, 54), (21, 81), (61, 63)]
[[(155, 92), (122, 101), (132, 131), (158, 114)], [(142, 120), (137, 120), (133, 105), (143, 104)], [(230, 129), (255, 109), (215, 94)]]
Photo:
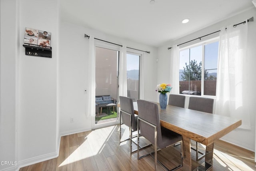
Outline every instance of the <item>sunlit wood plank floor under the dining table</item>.
[[(128, 127), (122, 125), (122, 137), (128, 137)], [(146, 143), (146, 141), (145, 141)], [(136, 147), (134, 144), (133, 147)], [(202, 146), (201, 146), (202, 147)], [(202, 147), (203, 149), (203, 147)], [(143, 155), (151, 151), (148, 147), (140, 151)], [(192, 167), (196, 168), (204, 159), (196, 161), (192, 153)], [(167, 147), (158, 152), (158, 159), (168, 168), (178, 165), (180, 145)], [(165, 169), (158, 165), (157, 170)], [(151, 156), (137, 160), (137, 153), (130, 155), (128, 142), (119, 144), (119, 125), (75, 133), (61, 137), (59, 156), (48, 161), (23, 167), (20, 171), (152, 171)], [(214, 161), (211, 171), (255, 171), (254, 152), (224, 141), (214, 144)], [(182, 168), (178, 171), (183, 171)]]

